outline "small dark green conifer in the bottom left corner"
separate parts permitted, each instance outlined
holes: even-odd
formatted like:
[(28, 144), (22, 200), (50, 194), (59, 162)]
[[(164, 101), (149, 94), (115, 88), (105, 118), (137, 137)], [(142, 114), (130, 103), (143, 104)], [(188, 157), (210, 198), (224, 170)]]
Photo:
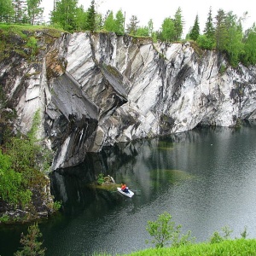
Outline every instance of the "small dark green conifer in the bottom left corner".
[(38, 241), (40, 237), (42, 237), (42, 233), (39, 230), (38, 224), (36, 223), (29, 226), (27, 235), (21, 234), (20, 243), (23, 248), (21, 251), (17, 251), (15, 256), (43, 256), (46, 248), (42, 247), (42, 241)]

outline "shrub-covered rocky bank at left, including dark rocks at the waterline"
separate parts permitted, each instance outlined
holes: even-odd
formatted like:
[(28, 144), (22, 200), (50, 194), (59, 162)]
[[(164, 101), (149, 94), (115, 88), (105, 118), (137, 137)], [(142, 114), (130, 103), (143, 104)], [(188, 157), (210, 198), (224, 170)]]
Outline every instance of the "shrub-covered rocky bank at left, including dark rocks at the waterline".
[[(53, 212), (54, 203), (47, 191), (49, 150), (37, 139), (39, 112), (27, 136), (9, 137), (0, 147), (0, 222), (26, 221), (37, 218), (37, 212)], [(12, 219), (9, 211), (22, 210)]]

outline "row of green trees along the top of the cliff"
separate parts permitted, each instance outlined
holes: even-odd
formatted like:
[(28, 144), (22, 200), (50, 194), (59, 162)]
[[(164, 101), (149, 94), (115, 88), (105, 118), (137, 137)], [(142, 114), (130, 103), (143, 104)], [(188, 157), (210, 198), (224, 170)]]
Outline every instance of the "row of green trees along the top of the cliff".
[[(32, 25), (44, 23), (42, 0), (2, 0), (0, 5), (0, 22), (29, 23)], [(96, 2), (92, 0), (88, 9), (78, 5), (78, 0), (54, 0), (54, 9), (50, 12), (49, 23), (67, 32), (115, 32), (125, 33), (134, 37), (150, 37), (154, 42), (177, 42), (182, 40), (184, 19), (182, 9), (178, 8), (173, 17), (166, 17), (159, 30), (154, 30), (154, 21), (148, 20), (148, 26), (139, 26), (136, 15), (127, 22), (125, 12), (121, 9), (114, 14), (109, 10), (106, 15), (96, 11)], [(244, 17), (237, 17), (233, 12), (218, 9), (212, 14), (211, 7), (207, 15), (204, 30), (200, 31), (199, 16), (195, 16), (186, 40), (196, 42), (201, 49), (217, 49), (227, 55), (231, 66), (237, 67), (239, 62), (244, 65), (256, 64), (256, 26), (253, 24), (243, 32)], [(126, 26), (125, 26), (126, 24)]]

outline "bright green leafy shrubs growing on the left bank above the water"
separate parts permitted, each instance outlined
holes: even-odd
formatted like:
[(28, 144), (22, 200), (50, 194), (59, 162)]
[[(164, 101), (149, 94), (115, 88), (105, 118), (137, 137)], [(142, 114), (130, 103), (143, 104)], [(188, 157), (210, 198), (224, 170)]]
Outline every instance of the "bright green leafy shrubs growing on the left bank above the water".
[(49, 167), (48, 150), (38, 144), (39, 111), (32, 120), (28, 136), (9, 139), (4, 144), (5, 154), (0, 152), (0, 196), (4, 201), (25, 207), (32, 197), (31, 188), (42, 186), (47, 179), (42, 172)]

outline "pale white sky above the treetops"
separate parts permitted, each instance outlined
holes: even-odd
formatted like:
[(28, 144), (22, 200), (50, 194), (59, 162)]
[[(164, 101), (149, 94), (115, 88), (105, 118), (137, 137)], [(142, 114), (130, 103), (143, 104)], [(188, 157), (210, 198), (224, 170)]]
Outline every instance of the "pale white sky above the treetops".
[[(53, 0), (42, 0), (45, 17), (53, 9), (53, 2)], [(83, 5), (86, 10), (90, 7), (90, 2), (90, 0), (79, 0), (79, 6)], [(125, 13), (125, 24), (129, 23), (131, 15), (136, 15), (140, 21), (138, 26), (148, 26), (148, 20), (152, 19), (154, 30), (160, 28), (165, 18), (173, 18), (180, 7), (185, 21), (183, 37), (194, 25), (196, 15), (199, 17), (201, 32), (203, 31), (210, 7), (212, 7), (212, 17), (217, 15), (218, 9), (224, 9), (225, 12), (232, 11), (237, 17), (242, 17), (247, 12), (247, 20), (242, 24), (243, 28), (247, 29), (253, 26), (253, 22), (256, 22), (254, 5), (254, 0), (96, 0), (97, 12), (102, 15), (106, 15), (108, 10), (112, 10), (115, 15), (121, 9)]]

